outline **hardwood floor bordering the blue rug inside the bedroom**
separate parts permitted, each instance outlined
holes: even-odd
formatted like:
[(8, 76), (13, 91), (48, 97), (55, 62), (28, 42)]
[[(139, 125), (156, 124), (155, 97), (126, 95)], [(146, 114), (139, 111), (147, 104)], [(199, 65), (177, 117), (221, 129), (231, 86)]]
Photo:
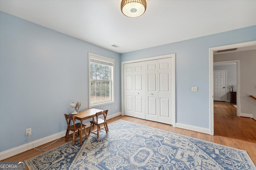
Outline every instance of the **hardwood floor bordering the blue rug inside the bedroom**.
[[(236, 140), (236, 139), (234, 140), (234, 139), (231, 139), (231, 138), (228, 138), (228, 137), (222, 137), (222, 136), (218, 136), (218, 135), (214, 135), (214, 136), (207, 135), (207, 134), (204, 134), (204, 133), (198, 133), (198, 132), (195, 132), (195, 131), (189, 131), (189, 130), (185, 130), (185, 129), (176, 128), (176, 127), (173, 127), (171, 125), (166, 125), (166, 124), (163, 124), (163, 123), (147, 121), (147, 120), (144, 120), (144, 119), (138, 119), (138, 118), (129, 117), (129, 116), (114, 117), (113, 119), (108, 120), (108, 124), (110, 124), (114, 121), (117, 121), (119, 119), (134, 122), (134, 123), (138, 123), (138, 124), (141, 124), (141, 125), (146, 125), (146, 126), (149, 126), (149, 127), (154, 127), (154, 128), (157, 128), (157, 129), (162, 129), (162, 130), (173, 132), (173, 133), (178, 133), (178, 134), (181, 134), (181, 135), (186, 135), (186, 136), (202, 139), (202, 140), (213, 142), (213, 143), (218, 143), (218, 144), (225, 145), (225, 146), (228, 146), (228, 147), (233, 147), (233, 148), (237, 148), (237, 149), (246, 150), (248, 152), (250, 158), (254, 162), (254, 164), (256, 164), (256, 144), (255, 143), (250, 143), (250, 142)], [(86, 129), (86, 130), (87, 130), (87, 132), (89, 131), (89, 129)], [(70, 137), (68, 141), (71, 141), (71, 140), (72, 140), (72, 137)], [(53, 149), (54, 147), (58, 147), (59, 145), (62, 145), (64, 143), (65, 143), (65, 138), (63, 137), (60, 140), (58, 140), (56, 143), (54, 143), (53, 145), (47, 147), (46, 149), (50, 150), (50, 149)], [(38, 147), (38, 149), (42, 149), (42, 147), (45, 147), (49, 144), (50, 143), (46, 143), (46, 144)], [(2, 160), (2, 161), (24, 161), (24, 160), (26, 160), (28, 158), (31, 158), (33, 156), (36, 156), (40, 153), (42, 153), (42, 152), (40, 152), (38, 150), (35, 150), (35, 149), (31, 149), (31, 150), (28, 150), (28, 151), (23, 152), (21, 154), (18, 154), (16, 156), (12, 156), (12, 157), (7, 158), (7, 159)]]

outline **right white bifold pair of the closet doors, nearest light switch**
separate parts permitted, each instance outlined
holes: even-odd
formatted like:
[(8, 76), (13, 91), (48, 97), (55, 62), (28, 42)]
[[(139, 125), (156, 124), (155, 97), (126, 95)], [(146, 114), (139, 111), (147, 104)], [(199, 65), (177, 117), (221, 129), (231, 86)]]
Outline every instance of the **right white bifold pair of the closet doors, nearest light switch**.
[(173, 124), (172, 58), (145, 62), (147, 120)]

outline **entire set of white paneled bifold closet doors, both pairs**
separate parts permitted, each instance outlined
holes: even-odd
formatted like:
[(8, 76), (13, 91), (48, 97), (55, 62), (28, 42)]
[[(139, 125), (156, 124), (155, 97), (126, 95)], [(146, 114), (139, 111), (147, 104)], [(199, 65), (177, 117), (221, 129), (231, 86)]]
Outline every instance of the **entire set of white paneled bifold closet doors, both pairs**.
[(173, 124), (172, 61), (124, 64), (124, 115)]

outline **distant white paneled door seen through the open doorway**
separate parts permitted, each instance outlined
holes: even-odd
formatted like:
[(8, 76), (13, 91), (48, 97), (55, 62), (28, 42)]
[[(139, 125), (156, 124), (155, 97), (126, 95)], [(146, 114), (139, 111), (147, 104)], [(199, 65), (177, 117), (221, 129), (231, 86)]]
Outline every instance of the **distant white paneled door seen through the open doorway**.
[(214, 100), (226, 102), (226, 70), (213, 72), (214, 75)]

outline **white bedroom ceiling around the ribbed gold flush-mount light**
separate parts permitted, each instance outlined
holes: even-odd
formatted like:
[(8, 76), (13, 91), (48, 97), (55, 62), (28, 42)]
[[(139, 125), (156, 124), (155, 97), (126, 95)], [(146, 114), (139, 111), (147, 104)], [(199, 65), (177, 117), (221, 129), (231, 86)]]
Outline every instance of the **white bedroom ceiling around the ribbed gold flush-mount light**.
[(124, 16), (120, 3), (0, 0), (0, 10), (117, 53), (256, 25), (256, 0), (147, 0), (138, 18)]

